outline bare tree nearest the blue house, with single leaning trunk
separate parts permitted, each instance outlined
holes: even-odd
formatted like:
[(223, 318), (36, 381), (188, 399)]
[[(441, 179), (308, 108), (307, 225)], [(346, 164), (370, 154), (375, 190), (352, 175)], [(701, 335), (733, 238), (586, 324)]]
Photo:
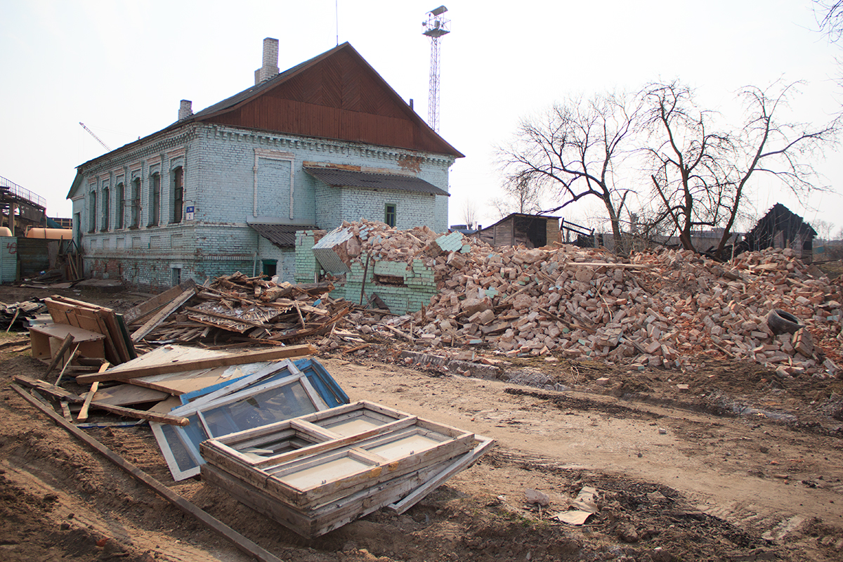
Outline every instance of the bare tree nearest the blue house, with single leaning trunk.
[(507, 184), (555, 193), (561, 205), (547, 212), (599, 197), (620, 244), (620, 213), (630, 190), (616, 188), (615, 166), (626, 155), (637, 111), (626, 95), (604, 94), (566, 99), (523, 120), (513, 142), (498, 148)]

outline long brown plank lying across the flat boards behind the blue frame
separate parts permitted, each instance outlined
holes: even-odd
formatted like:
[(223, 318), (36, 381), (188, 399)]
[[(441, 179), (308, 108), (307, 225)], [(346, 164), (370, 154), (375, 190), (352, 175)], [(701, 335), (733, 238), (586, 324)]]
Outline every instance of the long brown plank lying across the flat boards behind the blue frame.
[(232, 353), (228, 356), (213, 357), (210, 359), (197, 359), (194, 361), (171, 361), (165, 365), (151, 365), (148, 367), (137, 367), (135, 369), (110, 369), (103, 373), (80, 375), (76, 381), (79, 384), (93, 383), (94, 381), (115, 381), (129, 378), (149, 377), (171, 372), (195, 371), (211, 367), (223, 367), (230, 365), (243, 365), (244, 363), (260, 363), (261, 361), (276, 361), (289, 357), (300, 357), (313, 355), (319, 349), (315, 345), (288, 345), (287, 347), (276, 347), (271, 350), (244, 351)]

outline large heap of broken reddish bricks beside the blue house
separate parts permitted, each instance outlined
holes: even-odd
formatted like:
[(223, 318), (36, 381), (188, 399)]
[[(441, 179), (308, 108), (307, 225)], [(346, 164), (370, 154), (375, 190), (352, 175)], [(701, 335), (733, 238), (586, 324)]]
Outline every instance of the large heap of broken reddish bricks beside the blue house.
[[(788, 374), (839, 372), (840, 286), (792, 249), (766, 249), (717, 263), (662, 249), (620, 260), (599, 249), (492, 248), (477, 238), (344, 223), (337, 255), (361, 263), (423, 260), (439, 292), (418, 313), (372, 324), (417, 345), (481, 345), (507, 355), (547, 354), (690, 367), (701, 353), (759, 361)], [(452, 239), (454, 238), (454, 239)], [(766, 324), (792, 313), (812, 335), (808, 356)], [(350, 319), (360, 324), (364, 313)], [(798, 347), (798, 349), (797, 349)]]

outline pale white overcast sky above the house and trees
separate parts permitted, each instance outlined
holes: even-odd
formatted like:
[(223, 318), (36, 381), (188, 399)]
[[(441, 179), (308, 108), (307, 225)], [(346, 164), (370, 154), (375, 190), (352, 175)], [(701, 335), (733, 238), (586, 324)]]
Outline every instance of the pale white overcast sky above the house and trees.
[[(176, 120), (180, 99), (198, 111), (253, 85), (264, 37), (280, 40), (282, 71), (349, 41), (427, 117), (430, 43), (421, 22), (438, 5), (0, 0), (0, 176), (45, 197), (48, 215), (69, 217), (75, 167), (105, 153), (79, 121), (111, 148), (158, 131)], [(816, 31), (808, 0), (445, 5), (452, 32), (442, 40), (439, 132), (465, 154), (451, 169), (452, 224), (464, 222), (467, 203), (482, 224), (497, 220), (488, 204), (501, 185), (494, 147), (520, 119), (572, 94), (679, 78), (707, 107), (733, 115), (738, 88), (784, 78), (805, 81), (792, 104), (798, 120), (829, 120), (843, 103), (835, 60), (843, 51)], [(756, 185), (751, 202), (763, 214), (781, 201), (808, 222), (834, 223), (836, 232), (841, 163), (833, 151), (816, 163), (835, 194), (803, 205)], [(559, 214), (585, 220), (588, 207)]]

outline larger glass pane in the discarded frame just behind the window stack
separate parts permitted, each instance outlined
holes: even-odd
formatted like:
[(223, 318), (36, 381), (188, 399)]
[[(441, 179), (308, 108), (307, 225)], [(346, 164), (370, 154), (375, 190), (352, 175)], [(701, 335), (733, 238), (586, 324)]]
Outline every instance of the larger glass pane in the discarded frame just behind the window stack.
[(296, 382), (205, 410), (202, 416), (212, 436), (223, 436), (315, 411), (302, 384)]

